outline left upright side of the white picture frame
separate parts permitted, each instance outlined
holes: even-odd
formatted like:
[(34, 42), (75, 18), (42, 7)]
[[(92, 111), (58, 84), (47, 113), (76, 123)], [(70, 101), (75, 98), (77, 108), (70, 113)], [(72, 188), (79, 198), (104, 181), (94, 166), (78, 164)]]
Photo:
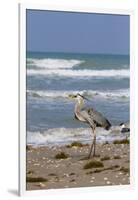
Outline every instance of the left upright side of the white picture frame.
[(26, 191), (26, 8), (19, 5), (19, 195)]

